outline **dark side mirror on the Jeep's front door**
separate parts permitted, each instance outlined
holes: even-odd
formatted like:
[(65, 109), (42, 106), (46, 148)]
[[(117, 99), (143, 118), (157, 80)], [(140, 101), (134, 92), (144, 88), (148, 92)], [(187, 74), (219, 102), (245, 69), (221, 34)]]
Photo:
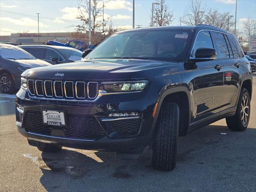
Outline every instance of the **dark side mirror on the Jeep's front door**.
[(216, 50), (212, 48), (198, 48), (195, 53), (195, 58), (191, 58), (192, 62), (208, 61), (216, 59)]

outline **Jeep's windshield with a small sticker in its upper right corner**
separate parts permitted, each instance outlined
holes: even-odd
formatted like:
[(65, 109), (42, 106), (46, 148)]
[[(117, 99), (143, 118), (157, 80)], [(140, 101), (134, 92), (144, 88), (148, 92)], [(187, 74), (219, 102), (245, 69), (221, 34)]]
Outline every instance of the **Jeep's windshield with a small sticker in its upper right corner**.
[(136, 58), (183, 61), (190, 31), (152, 30), (113, 34), (85, 59)]

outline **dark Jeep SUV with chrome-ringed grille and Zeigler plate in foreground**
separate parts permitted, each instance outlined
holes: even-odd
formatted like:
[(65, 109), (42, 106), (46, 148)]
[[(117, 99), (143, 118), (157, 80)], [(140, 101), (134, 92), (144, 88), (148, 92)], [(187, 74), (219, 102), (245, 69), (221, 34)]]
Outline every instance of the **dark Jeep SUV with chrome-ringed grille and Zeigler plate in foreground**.
[(250, 118), (250, 63), (234, 35), (212, 26), (117, 32), (83, 61), (30, 69), (21, 81), (16, 124), (44, 152), (136, 158), (152, 147), (152, 166), (173, 170), (178, 136), (222, 118), (244, 131)]

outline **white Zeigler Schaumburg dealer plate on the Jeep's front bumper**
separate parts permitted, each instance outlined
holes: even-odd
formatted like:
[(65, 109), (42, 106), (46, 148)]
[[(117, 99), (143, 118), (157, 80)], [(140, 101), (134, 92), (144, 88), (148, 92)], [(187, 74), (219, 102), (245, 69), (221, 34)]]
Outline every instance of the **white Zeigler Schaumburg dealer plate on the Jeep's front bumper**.
[(43, 123), (52, 126), (65, 126), (64, 112), (43, 110)]

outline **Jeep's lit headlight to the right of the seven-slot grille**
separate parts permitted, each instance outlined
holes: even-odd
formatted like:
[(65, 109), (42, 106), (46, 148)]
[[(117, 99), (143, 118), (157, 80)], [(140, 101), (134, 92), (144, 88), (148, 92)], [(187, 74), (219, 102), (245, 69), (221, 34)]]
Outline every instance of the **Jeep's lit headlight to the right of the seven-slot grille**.
[(123, 82), (102, 82), (107, 92), (132, 92), (142, 91), (148, 85), (148, 80), (123, 81)]

